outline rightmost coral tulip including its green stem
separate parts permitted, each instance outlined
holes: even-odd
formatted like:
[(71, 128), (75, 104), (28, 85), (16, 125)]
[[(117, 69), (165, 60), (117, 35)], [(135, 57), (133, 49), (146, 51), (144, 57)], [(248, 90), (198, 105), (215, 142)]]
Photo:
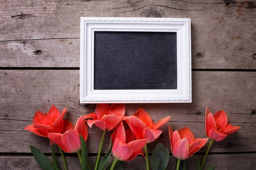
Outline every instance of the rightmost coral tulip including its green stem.
[(212, 115), (208, 107), (206, 108), (205, 133), (209, 137), (209, 139), (211, 139), (211, 141), (209, 143), (203, 162), (201, 164), (201, 169), (203, 169), (204, 167), (204, 162), (207, 158), (210, 147), (212, 146), (212, 142), (222, 141), (223, 139), (225, 139), (225, 137), (227, 137), (231, 133), (236, 132), (240, 128), (241, 127), (239, 126), (232, 126), (228, 123), (227, 114), (225, 111), (217, 111), (214, 115)]

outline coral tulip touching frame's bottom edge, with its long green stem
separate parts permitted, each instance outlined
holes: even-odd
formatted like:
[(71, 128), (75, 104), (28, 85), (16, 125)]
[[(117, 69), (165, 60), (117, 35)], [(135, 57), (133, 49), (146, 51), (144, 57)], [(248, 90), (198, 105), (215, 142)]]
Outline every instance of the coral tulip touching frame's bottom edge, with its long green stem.
[(92, 127), (93, 124), (103, 130), (102, 139), (99, 145), (99, 152), (96, 159), (96, 164), (94, 170), (97, 170), (99, 164), (99, 157), (102, 149), (102, 144), (104, 141), (104, 136), (106, 131), (112, 130), (119, 122), (123, 119), (125, 115), (125, 105), (124, 104), (97, 104), (95, 113), (90, 113), (83, 116), (84, 119), (92, 118), (93, 120), (88, 120), (88, 126)]

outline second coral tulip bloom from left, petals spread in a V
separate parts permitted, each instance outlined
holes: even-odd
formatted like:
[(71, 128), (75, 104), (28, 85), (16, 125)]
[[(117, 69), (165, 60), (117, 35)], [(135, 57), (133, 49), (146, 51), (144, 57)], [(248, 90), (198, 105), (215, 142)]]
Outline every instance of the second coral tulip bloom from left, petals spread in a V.
[(62, 150), (67, 153), (78, 153), (81, 150), (81, 141), (80, 136), (84, 138), (84, 141), (87, 140), (88, 131), (87, 125), (85, 125), (84, 119), (82, 116), (76, 122), (74, 129), (67, 130), (63, 134), (61, 133), (49, 133), (48, 138), (58, 144)]

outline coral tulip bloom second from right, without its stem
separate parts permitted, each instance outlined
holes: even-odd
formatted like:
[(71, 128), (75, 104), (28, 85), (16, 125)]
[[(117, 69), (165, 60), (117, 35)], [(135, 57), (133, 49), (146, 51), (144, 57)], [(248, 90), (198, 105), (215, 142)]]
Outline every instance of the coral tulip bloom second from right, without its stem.
[(200, 150), (206, 144), (208, 138), (195, 139), (188, 127), (173, 131), (169, 126), (169, 139), (172, 155), (177, 159), (185, 160)]

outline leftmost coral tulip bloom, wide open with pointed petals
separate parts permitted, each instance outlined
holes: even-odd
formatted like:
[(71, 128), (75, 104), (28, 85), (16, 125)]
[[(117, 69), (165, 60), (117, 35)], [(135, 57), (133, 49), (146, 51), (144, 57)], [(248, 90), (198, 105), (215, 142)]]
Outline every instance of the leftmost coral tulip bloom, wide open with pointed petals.
[[(64, 108), (60, 113), (54, 105), (52, 105), (48, 113), (36, 111), (33, 124), (25, 127), (25, 129), (43, 137), (48, 137), (49, 133), (61, 133), (64, 127), (63, 117), (66, 111), (67, 108)], [(68, 121), (65, 122), (67, 123)]]

